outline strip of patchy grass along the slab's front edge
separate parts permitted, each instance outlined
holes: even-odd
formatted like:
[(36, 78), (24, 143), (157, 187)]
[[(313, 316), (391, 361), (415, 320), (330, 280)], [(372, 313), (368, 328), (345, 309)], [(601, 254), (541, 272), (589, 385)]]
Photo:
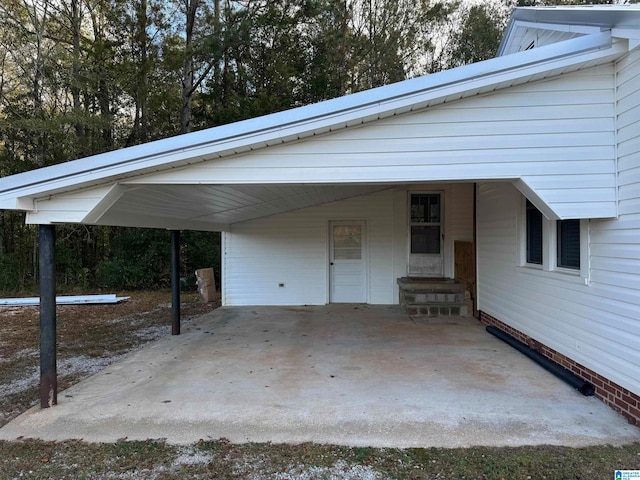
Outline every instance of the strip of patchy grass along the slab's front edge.
[[(363, 456), (366, 454), (366, 456)], [(376, 449), (159, 441), (0, 442), (2, 478), (33, 479), (609, 479), (637, 469), (640, 445)]]

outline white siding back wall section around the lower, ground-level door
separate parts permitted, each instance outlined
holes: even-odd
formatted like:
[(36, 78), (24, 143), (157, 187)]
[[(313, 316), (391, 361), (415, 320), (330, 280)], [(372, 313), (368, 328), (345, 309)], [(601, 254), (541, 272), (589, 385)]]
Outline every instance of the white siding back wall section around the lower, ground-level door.
[(225, 304), (327, 303), (328, 225), (341, 219), (367, 222), (369, 302), (396, 303), (393, 192), (387, 191), (234, 224), (225, 233)]

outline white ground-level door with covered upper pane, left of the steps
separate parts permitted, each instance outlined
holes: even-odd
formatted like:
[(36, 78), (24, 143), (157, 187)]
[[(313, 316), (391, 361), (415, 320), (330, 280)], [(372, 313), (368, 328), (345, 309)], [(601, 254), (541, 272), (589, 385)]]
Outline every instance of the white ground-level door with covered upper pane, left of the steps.
[(329, 222), (329, 301), (367, 302), (366, 223)]

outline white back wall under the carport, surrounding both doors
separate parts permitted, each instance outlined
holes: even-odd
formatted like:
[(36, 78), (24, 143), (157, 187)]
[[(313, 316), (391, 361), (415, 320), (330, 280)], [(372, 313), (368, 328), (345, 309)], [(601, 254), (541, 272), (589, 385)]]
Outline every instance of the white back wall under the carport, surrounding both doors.
[(368, 303), (397, 304), (396, 279), (407, 273), (407, 199), (424, 191), (444, 193), (445, 275), (453, 276), (453, 241), (473, 238), (473, 185), (390, 187), (232, 225), (223, 233), (223, 304), (328, 303), (331, 220), (366, 221)]

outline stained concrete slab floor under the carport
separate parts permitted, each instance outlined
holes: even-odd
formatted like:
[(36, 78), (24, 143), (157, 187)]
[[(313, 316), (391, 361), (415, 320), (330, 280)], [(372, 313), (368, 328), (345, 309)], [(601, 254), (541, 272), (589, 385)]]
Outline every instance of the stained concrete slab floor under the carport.
[(640, 429), (474, 319), (329, 305), (218, 309), (0, 429), (17, 437), (582, 446)]

